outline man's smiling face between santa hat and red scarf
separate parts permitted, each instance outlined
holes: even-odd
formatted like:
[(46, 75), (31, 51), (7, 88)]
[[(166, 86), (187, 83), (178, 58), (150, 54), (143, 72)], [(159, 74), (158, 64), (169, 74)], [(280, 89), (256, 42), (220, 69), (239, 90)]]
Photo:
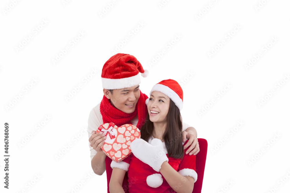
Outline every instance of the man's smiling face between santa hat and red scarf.
[(108, 93), (113, 106), (124, 113), (133, 113), (140, 97), (139, 85), (125, 89), (114, 89)]

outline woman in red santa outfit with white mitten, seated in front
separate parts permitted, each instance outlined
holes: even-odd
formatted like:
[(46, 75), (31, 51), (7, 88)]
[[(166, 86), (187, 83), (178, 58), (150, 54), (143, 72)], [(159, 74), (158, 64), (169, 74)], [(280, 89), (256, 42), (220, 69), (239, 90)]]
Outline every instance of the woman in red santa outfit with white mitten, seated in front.
[(192, 192), (197, 180), (195, 156), (185, 154), (182, 143), (183, 91), (175, 80), (154, 85), (146, 100), (147, 120), (141, 139), (131, 143), (132, 154), (112, 161), (110, 192), (124, 192), (122, 181), (128, 171), (129, 192)]

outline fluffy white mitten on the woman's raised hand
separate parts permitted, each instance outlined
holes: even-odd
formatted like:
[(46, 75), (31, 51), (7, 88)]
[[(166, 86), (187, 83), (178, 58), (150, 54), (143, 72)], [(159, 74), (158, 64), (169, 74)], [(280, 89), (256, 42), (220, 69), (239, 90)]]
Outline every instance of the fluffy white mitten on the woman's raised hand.
[(151, 166), (157, 172), (159, 172), (162, 163), (168, 161), (160, 139), (153, 139), (151, 144), (143, 139), (135, 139), (130, 147), (138, 159)]

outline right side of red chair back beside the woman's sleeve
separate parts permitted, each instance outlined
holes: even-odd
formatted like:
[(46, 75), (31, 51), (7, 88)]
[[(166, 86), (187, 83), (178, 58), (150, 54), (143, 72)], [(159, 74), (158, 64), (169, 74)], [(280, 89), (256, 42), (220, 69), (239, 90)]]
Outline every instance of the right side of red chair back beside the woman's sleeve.
[(197, 139), (198, 139), (198, 144), (200, 147), (200, 152), (198, 152), (196, 157), (195, 157), (197, 181), (194, 183), (192, 193), (200, 193), (201, 192), (204, 167), (205, 167), (205, 161), (206, 161), (206, 154), (207, 154), (207, 141), (206, 141), (206, 139), (202, 139), (202, 138), (197, 138)]

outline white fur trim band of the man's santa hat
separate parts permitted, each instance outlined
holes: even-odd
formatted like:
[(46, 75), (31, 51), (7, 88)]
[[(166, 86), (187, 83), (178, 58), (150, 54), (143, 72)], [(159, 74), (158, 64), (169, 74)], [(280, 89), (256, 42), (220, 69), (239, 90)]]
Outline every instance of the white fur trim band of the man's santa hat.
[(102, 78), (103, 88), (108, 90), (130, 88), (140, 83), (141, 80), (139, 74), (128, 78), (119, 79)]

